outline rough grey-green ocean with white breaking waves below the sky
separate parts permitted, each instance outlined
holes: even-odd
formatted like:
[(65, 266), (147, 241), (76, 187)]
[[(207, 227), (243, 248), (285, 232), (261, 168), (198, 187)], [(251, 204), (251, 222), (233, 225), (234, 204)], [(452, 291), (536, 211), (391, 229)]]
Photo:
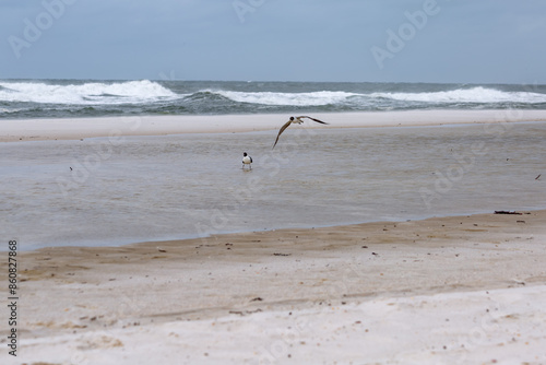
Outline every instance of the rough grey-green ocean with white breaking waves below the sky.
[(0, 81), (2, 119), (505, 108), (546, 109), (546, 85)]

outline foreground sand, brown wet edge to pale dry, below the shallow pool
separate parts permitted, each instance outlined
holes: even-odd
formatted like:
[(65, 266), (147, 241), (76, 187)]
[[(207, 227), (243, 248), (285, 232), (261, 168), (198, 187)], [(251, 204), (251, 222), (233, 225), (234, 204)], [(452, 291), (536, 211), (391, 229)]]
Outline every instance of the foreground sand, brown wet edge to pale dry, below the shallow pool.
[(546, 363), (546, 211), (17, 260), (2, 364)]

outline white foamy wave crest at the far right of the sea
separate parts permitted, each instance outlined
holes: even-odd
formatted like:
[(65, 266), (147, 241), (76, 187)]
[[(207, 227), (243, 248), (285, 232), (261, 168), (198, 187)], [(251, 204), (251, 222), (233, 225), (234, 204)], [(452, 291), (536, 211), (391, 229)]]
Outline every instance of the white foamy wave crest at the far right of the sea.
[(373, 93), (372, 97), (423, 103), (546, 103), (546, 95), (531, 92), (502, 92), (495, 89), (473, 87), (432, 93)]

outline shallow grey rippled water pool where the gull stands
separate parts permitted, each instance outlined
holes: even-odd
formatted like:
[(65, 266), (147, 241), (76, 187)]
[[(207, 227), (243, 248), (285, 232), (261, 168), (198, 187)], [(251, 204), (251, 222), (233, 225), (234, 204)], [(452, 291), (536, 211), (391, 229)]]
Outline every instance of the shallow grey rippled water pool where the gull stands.
[(275, 137), (1, 143), (1, 231), (27, 250), (546, 207), (544, 122)]

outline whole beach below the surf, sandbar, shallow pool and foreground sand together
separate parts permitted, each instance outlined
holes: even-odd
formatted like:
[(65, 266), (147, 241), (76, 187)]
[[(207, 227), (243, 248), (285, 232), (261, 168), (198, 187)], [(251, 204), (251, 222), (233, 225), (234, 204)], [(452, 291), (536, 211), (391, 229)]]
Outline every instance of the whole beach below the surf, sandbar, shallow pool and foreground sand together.
[(2, 363), (544, 364), (546, 113), (313, 117), (2, 120)]

